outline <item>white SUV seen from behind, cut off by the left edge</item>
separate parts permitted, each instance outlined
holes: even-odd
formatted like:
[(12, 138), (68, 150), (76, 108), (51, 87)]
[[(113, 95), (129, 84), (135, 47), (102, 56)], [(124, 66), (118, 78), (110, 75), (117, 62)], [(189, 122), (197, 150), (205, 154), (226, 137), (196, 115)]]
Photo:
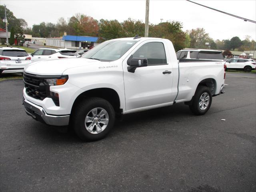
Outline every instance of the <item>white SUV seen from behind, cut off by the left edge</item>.
[(31, 63), (31, 57), (24, 49), (0, 47), (0, 74), (22, 73), (24, 67)]

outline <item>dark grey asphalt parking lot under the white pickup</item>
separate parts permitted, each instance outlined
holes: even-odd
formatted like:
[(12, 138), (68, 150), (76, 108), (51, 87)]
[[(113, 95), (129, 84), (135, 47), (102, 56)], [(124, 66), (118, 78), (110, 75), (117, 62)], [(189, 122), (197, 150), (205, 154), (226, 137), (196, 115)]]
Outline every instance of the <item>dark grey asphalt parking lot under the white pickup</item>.
[(25, 114), (22, 80), (0, 82), (0, 191), (256, 191), (256, 74), (225, 83), (204, 116), (176, 104), (82, 142)]

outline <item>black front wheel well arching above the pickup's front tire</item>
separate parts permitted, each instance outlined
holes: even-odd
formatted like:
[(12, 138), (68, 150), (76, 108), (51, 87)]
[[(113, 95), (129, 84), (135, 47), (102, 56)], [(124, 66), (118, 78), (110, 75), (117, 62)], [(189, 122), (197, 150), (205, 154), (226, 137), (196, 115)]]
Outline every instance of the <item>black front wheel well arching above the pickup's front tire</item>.
[[(118, 93), (111, 88), (97, 88), (85, 91), (81, 93), (76, 100), (74, 101), (74, 104), (72, 106), (72, 110), (76, 108), (76, 106), (79, 104), (80, 101), (88, 98), (88, 97), (100, 97), (108, 102), (113, 106), (116, 113), (120, 113), (120, 99), (118, 96)], [(71, 112), (72, 114), (72, 112)]]

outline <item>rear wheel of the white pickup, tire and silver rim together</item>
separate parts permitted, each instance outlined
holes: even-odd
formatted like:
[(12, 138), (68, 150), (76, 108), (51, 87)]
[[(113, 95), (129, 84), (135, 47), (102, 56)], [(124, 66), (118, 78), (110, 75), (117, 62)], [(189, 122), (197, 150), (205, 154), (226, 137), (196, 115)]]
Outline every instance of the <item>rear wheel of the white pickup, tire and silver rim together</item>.
[(204, 115), (212, 104), (212, 94), (208, 87), (198, 86), (190, 110), (196, 115)]

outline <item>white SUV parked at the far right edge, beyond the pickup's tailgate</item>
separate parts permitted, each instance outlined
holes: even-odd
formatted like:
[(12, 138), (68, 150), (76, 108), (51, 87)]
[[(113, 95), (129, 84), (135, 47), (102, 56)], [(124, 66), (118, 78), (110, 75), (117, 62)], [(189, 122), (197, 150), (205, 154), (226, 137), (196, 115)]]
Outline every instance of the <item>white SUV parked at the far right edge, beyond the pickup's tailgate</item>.
[(227, 69), (244, 70), (251, 72), (256, 67), (256, 62), (252, 59), (233, 58), (226, 61)]

